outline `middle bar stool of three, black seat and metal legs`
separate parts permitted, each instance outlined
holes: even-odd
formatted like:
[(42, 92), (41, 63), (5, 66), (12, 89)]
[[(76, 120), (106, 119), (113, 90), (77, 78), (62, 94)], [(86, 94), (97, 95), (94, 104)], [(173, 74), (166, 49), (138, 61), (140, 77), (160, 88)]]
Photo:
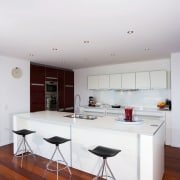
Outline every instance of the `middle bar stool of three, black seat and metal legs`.
[[(45, 172), (44, 172), (43, 177), (45, 177), (47, 170), (49, 170), (49, 171), (55, 171), (55, 172), (57, 173), (57, 176), (56, 176), (56, 177), (57, 177), (57, 180), (58, 180), (58, 176), (59, 176), (58, 173), (59, 173), (59, 171), (64, 170), (64, 169), (66, 169), (66, 168), (68, 169), (69, 174), (70, 174), (70, 176), (71, 176), (72, 173), (71, 173), (71, 170), (70, 170), (70, 168), (69, 168), (69, 166), (68, 166), (68, 163), (66, 162), (64, 156), (62, 155), (62, 153), (61, 153), (61, 151), (60, 151), (60, 149), (59, 149), (59, 144), (63, 144), (63, 143), (65, 143), (65, 142), (68, 142), (68, 141), (70, 141), (70, 139), (66, 139), (66, 138), (62, 138), (62, 137), (58, 137), (58, 136), (54, 136), (54, 137), (51, 137), (51, 138), (43, 138), (43, 139), (46, 140), (47, 142), (51, 143), (51, 144), (55, 144), (55, 145), (56, 145), (55, 150), (54, 150), (54, 153), (53, 153), (51, 159), (50, 159), (49, 162), (46, 164), (46, 170), (45, 170)], [(60, 158), (61, 158), (61, 160), (59, 160), (59, 159), (56, 160), (56, 169), (53, 169), (53, 168), (50, 167), (50, 165), (53, 163), (53, 158), (54, 158), (55, 154), (59, 155)], [(65, 163), (65, 167), (59, 169), (59, 167), (58, 167), (58, 166), (59, 166), (59, 163), (58, 163), (58, 162), (64, 162), (64, 163)]]

